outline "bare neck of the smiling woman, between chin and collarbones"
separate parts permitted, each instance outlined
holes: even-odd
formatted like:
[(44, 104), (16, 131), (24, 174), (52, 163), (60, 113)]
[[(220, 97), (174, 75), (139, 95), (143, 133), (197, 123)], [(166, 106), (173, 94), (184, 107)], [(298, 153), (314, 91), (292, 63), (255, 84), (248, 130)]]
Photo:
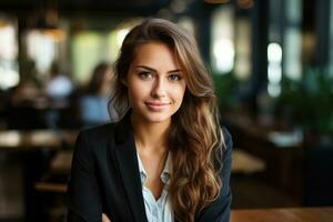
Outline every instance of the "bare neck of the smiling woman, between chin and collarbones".
[(167, 151), (167, 138), (171, 122), (149, 123), (131, 117), (137, 149), (149, 153)]

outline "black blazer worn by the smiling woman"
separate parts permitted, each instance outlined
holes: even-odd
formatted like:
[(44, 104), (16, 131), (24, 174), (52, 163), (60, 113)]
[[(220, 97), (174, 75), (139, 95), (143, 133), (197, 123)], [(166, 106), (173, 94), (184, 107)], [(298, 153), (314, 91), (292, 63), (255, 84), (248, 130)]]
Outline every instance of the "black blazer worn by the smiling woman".
[[(223, 169), (220, 196), (195, 218), (200, 222), (229, 222), (232, 140), (223, 129)], [(79, 133), (69, 182), (68, 221), (147, 222), (130, 118)]]

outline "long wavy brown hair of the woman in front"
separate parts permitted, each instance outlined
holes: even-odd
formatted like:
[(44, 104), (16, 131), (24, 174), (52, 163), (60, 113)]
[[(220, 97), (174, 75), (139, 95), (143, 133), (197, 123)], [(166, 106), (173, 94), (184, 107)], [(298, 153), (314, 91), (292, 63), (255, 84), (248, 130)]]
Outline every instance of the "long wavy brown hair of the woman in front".
[(172, 153), (169, 186), (174, 219), (192, 222), (220, 194), (221, 153), (224, 143), (212, 79), (200, 58), (194, 38), (176, 24), (148, 19), (125, 37), (115, 63), (118, 84), (110, 103), (119, 117), (129, 110), (128, 89), (122, 83), (135, 49), (159, 41), (172, 49), (185, 73), (186, 90), (180, 109), (172, 115), (168, 147)]

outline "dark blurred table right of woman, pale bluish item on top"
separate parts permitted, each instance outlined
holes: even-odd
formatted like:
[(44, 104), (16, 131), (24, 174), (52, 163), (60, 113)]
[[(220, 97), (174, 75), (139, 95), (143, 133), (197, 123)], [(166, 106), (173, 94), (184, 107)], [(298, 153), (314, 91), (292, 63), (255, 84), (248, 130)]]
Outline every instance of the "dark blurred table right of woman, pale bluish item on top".
[[(233, 144), (265, 163), (261, 176), (265, 182), (289, 193), (303, 203), (306, 186), (306, 145), (297, 132), (276, 131), (281, 128), (262, 125), (251, 115), (229, 113), (224, 117), (233, 135)], [(304, 203), (305, 204), (305, 203)]]

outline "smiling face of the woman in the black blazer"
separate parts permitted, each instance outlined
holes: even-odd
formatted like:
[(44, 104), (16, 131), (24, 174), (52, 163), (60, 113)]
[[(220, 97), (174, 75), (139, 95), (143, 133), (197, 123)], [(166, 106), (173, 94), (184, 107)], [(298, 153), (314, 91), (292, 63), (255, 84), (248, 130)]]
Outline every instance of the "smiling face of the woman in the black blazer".
[(137, 48), (124, 83), (133, 118), (150, 123), (170, 122), (186, 88), (173, 51), (162, 42)]

